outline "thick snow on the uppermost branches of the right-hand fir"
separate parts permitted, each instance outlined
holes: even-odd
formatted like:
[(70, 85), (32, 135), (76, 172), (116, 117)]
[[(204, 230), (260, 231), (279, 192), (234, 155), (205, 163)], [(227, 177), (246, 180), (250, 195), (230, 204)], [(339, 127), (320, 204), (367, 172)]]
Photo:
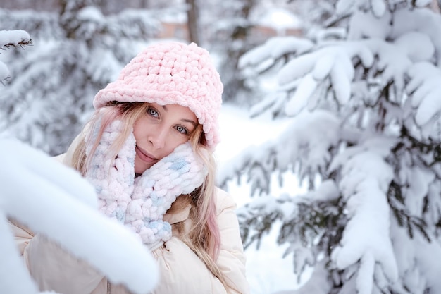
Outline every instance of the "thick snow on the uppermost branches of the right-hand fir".
[[(339, 5), (346, 4), (353, 2), (339, 2)], [(441, 25), (441, 19), (436, 16), (422, 8), (397, 11), (393, 19), (390, 12), (376, 18), (371, 12), (359, 11), (349, 20), (348, 39), (353, 42), (333, 42), (310, 51), (312, 44), (307, 41), (295, 37), (275, 37), (244, 54), (240, 68), (256, 66), (260, 71), (273, 65), (282, 54), (291, 52), (299, 55), (288, 61), (277, 75), (278, 90), (297, 88), (288, 97), (285, 108), (286, 114), (294, 116), (305, 108), (306, 102), (310, 103), (313, 93), (328, 77), (337, 101), (341, 105), (348, 104), (351, 95), (356, 94), (351, 89), (354, 80), (352, 60), (360, 59), (366, 68), (382, 71), (384, 80), (394, 81), (397, 97), (405, 87), (407, 93), (414, 94), (411, 102), (416, 108), (413, 114), (415, 121), (423, 129), (423, 137), (433, 136), (433, 120), (441, 111), (441, 100), (438, 99), (440, 87), (437, 87), (441, 71), (433, 64), (433, 56), (437, 56), (435, 51), (441, 51), (440, 38), (433, 29)], [(394, 37), (393, 42), (387, 42), (390, 37)], [(355, 42), (357, 39), (361, 40)], [(304, 52), (306, 54), (302, 54)], [(409, 81), (406, 80), (408, 77)], [(282, 94), (278, 95), (282, 97)], [(393, 111), (389, 113), (392, 119)]]

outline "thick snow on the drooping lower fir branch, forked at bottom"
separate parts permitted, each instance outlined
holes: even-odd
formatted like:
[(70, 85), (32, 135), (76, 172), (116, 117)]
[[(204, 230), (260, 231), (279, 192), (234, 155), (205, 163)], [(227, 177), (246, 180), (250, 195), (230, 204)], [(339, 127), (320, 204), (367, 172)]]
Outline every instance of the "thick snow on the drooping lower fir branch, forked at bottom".
[[(349, 217), (340, 245), (333, 250), (331, 259), (338, 269), (359, 263), (356, 288), (361, 294), (372, 293), (375, 271), (383, 270), (380, 274), (389, 281), (398, 278), (387, 202), (394, 171), (384, 160), (394, 142), (393, 138), (368, 137), (359, 146), (348, 147), (346, 152), (337, 155), (330, 166), (330, 169), (341, 167), (339, 188), (347, 200)], [(377, 263), (382, 267), (375, 267)]]

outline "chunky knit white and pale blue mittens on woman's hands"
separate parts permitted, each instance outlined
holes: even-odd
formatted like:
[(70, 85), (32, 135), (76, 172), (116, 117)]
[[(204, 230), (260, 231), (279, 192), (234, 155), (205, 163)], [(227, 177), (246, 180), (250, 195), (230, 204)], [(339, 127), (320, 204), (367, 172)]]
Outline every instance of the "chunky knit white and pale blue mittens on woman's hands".
[[(120, 121), (108, 125), (90, 161), (86, 178), (97, 191), (99, 210), (125, 223), (154, 249), (171, 238), (171, 226), (163, 221), (167, 209), (176, 197), (198, 188), (207, 171), (190, 142), (186, 142), (135, 179), (136, 142), (132, 133), (113, 161), (107, 156), (121, 128)], [(94, 142), (97, 134), (90, 137)], [(90, 145), (87, 144), (88, 157)]]

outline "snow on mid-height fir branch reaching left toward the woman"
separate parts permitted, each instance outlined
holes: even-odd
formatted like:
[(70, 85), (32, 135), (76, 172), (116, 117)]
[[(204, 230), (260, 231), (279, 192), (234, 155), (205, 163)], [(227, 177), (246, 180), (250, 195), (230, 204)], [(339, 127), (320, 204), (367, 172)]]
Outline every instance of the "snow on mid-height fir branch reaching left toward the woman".
[[(323, 173), (330, 162), (330, 149), (337, 147), (342, 138), (353, 135), (341, 125), (332, 112), (306, 111), (293, 118), (293, 123), (278, 138), (261, 146), (251, 146), (223, 164), (218, 183), (224, 186), (233, 177), (239, 179), (248, 171), (251, 194), (268, 192), (273, 171), (295, 170), (302, 181)], [(354, 137), (352, 137), (354, 139)], [(304, 166), (308, 166), (304, 169)]]

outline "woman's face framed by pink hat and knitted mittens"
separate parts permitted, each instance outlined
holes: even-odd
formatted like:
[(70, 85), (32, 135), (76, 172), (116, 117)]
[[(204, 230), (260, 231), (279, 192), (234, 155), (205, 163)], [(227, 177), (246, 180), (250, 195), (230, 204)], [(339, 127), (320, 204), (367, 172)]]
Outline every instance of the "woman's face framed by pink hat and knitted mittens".
[(197, 127), (197, 117), (185, 106), (149, 103), (147, 113), (135, 121), (135, 173), (144, 173), (163, 157), (187, 142)]

